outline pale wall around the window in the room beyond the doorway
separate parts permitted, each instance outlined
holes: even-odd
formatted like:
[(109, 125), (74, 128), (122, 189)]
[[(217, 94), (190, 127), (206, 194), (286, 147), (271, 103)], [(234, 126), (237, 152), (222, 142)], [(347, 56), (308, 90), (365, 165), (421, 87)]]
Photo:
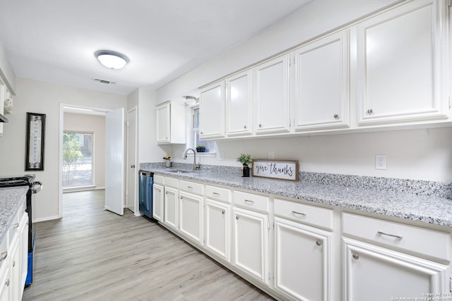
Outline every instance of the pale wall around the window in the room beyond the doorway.
[(64, 113), (64, 130), (94, 133), (94, 184), (105, 188), (105, 116)]

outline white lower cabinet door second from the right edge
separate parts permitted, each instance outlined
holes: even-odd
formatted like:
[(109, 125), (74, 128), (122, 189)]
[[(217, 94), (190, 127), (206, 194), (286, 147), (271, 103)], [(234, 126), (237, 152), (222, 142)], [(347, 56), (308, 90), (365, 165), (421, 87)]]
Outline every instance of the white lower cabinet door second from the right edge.
[(275, 218), (275, 288), (297, 300), (331, 300), (331, 233)]

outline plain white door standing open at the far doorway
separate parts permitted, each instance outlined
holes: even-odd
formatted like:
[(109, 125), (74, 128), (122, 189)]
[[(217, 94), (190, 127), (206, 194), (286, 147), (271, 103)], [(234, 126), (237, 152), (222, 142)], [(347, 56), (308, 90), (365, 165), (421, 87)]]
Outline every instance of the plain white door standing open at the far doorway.
[(105, 209), (124, 214), (124, 108), (105, 114)]

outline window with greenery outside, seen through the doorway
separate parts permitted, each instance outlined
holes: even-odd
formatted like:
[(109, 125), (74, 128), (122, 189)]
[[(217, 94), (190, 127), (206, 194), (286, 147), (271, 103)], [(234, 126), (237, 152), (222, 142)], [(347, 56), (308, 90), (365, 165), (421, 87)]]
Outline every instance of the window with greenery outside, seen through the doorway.
[(94, 185), (93, 133), (64, 131), (63, 188)]

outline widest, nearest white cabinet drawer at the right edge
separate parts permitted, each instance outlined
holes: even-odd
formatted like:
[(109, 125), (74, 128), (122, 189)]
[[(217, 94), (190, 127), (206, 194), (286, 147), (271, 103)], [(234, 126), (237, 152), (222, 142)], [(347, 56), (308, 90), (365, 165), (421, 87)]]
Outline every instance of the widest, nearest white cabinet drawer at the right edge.
[(451, 237), (444, 232), (343, 213), (343, 234), (435, 259), (451, 260)]

